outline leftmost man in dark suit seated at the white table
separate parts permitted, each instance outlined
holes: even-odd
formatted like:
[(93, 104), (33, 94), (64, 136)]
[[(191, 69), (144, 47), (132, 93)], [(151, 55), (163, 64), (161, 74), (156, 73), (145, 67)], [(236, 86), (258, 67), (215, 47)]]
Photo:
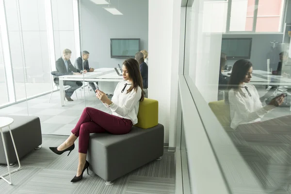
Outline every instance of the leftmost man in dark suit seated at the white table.
[[(63, 75), (80, 75), (81, 73), (86, 73), (86, 71), (80, 71), (76, 69), (71, 61), (71, 54), (72, 51), (70, 49), (65, 49), (63, 51), (63, 56), (56, 61), (56, 69), (59, 72), (59, 76)], [(65, 98), (68, 101), (73, 101), (71, 96), (73, 95), (74, 91), (77, 90), (82, 86), (81, 81), (64, 81), (64, 85), (71, 86), (69, 89), (65, 90)]]

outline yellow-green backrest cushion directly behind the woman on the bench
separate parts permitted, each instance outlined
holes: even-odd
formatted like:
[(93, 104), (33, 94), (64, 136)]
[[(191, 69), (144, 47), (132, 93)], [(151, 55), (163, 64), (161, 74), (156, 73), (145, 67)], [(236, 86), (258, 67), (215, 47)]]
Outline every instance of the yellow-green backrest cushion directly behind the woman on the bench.
[(140, 102), (137, 114), (138, 123), (135, 127), (142, 129), (152, 128), (158, 125), (159, 103), (157, 100), (146, 98)]

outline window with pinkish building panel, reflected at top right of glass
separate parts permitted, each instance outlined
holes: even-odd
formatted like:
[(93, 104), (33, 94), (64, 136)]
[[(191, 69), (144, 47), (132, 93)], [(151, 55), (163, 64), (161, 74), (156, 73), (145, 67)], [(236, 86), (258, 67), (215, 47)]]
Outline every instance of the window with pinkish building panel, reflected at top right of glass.
[(281, 32), (285, 0), (228, 0), (226, 32)]

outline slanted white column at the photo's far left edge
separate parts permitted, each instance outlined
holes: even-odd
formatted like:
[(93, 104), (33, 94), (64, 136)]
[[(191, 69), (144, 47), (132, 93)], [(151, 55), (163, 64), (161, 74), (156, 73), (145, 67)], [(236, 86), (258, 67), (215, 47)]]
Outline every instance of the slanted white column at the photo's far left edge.
[(9, 38), (7, 32), (6, 14), (4, 0), (0, 0), (0, 35), (1, 35), (1, 45), (3, 51), (3, 61), (6, 77), (6, 85), (8, 92), (8, 101), (10, 103), (16, 102), (13, 71), (11, 64), (11, 55), (9, 47)]

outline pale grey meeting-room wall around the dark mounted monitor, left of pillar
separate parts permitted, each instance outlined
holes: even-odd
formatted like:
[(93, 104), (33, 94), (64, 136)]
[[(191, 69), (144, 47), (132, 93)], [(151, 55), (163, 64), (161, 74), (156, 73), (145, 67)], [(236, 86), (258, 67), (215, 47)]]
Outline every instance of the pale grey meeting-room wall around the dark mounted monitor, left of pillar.
[(89, 64), (94, 68), (115, 67), (124, 61), (111, 59), (110, 38), (140, 38), (141, 49), (148, 49), (148, 1), (120, 0), (119, 8), (118, 0), (110, 2), (122, 16), (107, 12), (104, 5), (81, 0), (81, 48), (90, 52)]

